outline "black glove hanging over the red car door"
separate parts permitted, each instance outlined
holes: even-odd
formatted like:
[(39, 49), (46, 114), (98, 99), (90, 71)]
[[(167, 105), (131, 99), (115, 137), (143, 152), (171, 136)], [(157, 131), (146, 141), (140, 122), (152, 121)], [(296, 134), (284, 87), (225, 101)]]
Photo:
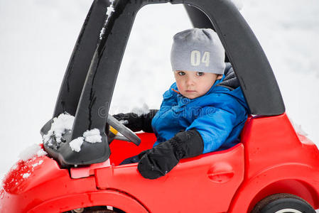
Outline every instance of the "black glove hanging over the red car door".
[(156, 179), (171, 171), (180, 159), (200, 155), (203, 149), (202, 136), (196, 129), (180, 131), (144, 152), (137, 168), (144, 178)]

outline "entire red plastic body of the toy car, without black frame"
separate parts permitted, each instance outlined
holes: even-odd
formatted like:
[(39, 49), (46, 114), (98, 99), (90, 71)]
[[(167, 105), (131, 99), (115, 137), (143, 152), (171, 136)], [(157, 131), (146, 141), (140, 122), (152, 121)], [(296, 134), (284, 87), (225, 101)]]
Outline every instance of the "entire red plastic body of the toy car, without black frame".
[(183, 159), (156, 180), (141, 177), (136, 163), (119, 165), (156, 141), (152, 133), (139, 137), (140, 146), (113, 141), (111, 165), (95, 168), (86, 178), (70, 178), (69, 170), (48, 156), (19, 161), (4, 178), (0, 212), (65, 212), (96, 205), (125, 212), (249, 212), (276, 193), (319, 207), (318, 148), (296, 134), (286, 114), (250, 117), (237, 146)]

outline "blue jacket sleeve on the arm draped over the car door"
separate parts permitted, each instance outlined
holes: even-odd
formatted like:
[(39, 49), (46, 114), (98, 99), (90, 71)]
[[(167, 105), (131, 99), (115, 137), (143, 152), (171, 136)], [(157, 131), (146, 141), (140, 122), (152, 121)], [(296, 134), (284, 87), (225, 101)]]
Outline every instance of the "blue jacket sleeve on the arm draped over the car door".
[(217, 151), (225, 143), (234, 126), (246, 116), (246, 109), (242, 104), (230, 98), (214, 104), (213, 107), (203, 107), (200, 116), (186, 130), (197, 129), (204, 143), (202, 153), (209, 153)]

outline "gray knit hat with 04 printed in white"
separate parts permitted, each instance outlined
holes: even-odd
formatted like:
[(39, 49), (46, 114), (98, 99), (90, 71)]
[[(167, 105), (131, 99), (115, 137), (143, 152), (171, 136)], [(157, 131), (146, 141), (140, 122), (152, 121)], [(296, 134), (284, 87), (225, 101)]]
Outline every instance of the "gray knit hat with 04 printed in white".
[(173, 70), (211, 72), (222, 75), (225, 50), (212, 29), (191, 28), (173, 37), (171, 64)]

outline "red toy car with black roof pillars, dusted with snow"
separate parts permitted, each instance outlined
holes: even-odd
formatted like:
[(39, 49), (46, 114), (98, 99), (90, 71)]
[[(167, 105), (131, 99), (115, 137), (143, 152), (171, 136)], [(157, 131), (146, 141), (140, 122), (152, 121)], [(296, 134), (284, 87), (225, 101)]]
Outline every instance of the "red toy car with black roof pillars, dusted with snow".
[[(105, 103), (111, 102), (137, 11), (168, 2), (185, 4), (194, 27), (215, 28), (251, 115), (236, 146), (183, 159), (164, 177), (148, 180), (136, 163), (119, 163), (151, 148), (156, 137), (139, 133), (139, 146), (123, 140), (109, 145), (105, 129), (112, 117)], [(319, 207), (318, 148), (293, 129), (266, 55), (231, 1), (94, 0), (53, 117), (65, 112), (75, 116), (72, 131), (60, 146), (43, 144), (48, 155), (11, 168), (0, 191), (1, 212), (299, 213)], [(43, 126), (43, 135), (52, 123)], [(80, 152), (72, 151), (70, 141), (94, 128), (102, 143), (83, 143)]]

